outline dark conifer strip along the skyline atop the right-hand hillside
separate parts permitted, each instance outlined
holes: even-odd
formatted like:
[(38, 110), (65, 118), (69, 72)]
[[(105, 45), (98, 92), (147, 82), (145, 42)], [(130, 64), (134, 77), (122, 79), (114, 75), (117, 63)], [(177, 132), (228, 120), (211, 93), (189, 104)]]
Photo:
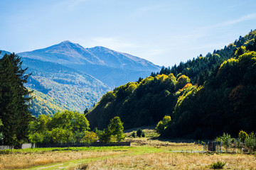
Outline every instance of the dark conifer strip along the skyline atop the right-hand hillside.
[(238, 40), (235, 40), (235, 42), (230, 43), (223, 49), (213, 50), (213, 54), (208, 52), (206, 57), (200, 55), (196, 59), (193, 58), (193, 60), (181, 62), (178, 66), (175, 64), (171, 68), (162, 67), (160, 72), (152, 72), (151, 76), (154, 77), (156, 74), (168, 75), (170, 73), (173, 73), (174, 76), (185, 74), (191, 79), (193, 84), (202, 85), (212, 72), (217, 72), (220, 64), (232, 57), (242, 55), (246, 50), (245, 47), (251, 45), (254, 40), (255, 31), (251, 31), (248, 35), (240, 36)]

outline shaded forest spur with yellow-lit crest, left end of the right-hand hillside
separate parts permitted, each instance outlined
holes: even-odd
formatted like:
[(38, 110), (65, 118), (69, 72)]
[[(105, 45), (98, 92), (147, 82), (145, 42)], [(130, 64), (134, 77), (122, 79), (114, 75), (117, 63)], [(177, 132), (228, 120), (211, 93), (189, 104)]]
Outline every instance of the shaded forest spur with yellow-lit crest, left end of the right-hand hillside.
[[(179, 84), (183, 78), (179, 79)], [(178, 88), (176, 77), (159, 75), (139, 82), (124, 84), (103, 95), (87, 118), (92, 128), (106, 128), (114, 116), (124, 122), (124, 128), (153, 125), (164, 115), (171, 113), (176, 103), (174, 93)]]

